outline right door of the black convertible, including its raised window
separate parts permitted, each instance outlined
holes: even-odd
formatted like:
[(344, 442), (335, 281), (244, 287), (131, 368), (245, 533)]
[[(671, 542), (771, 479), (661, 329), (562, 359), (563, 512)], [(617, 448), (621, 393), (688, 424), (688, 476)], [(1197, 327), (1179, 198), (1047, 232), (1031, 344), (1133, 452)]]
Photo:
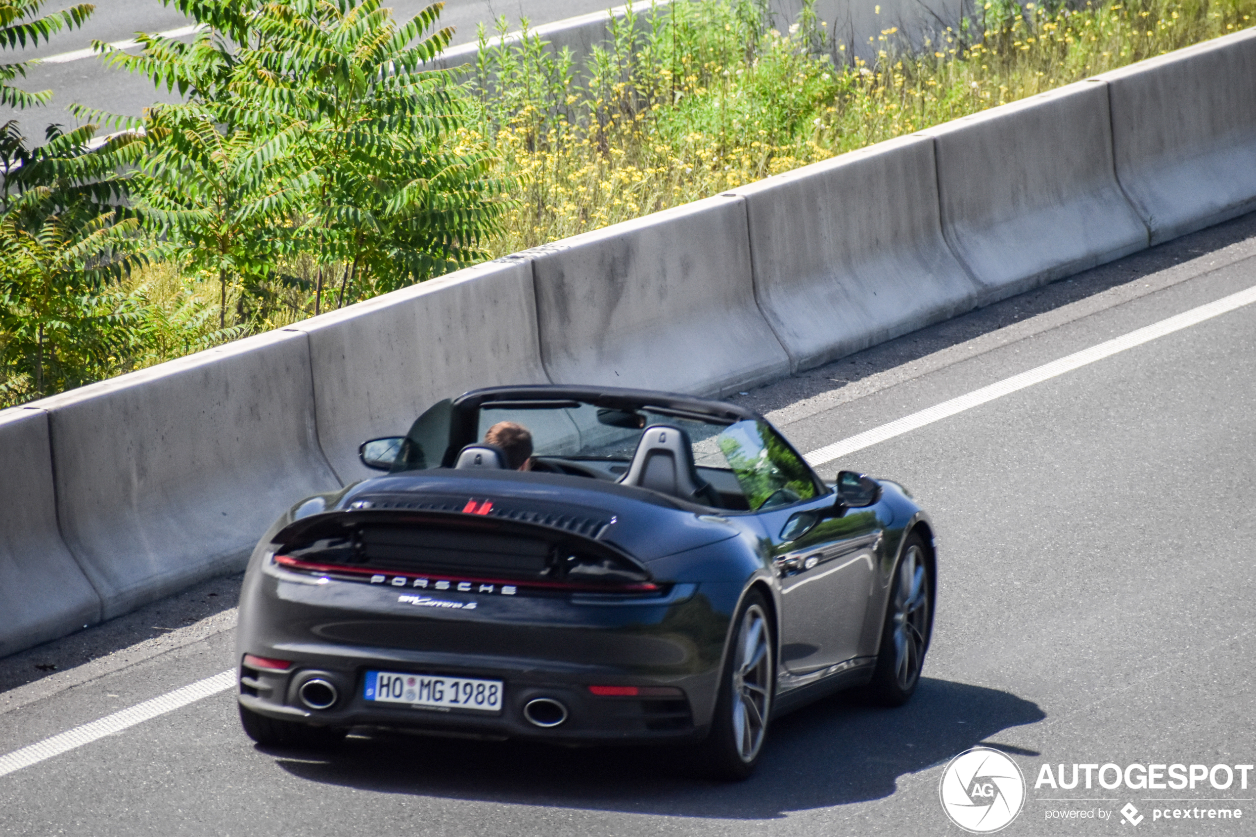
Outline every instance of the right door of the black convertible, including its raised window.
[(739, 422), (718, 444), (780, 578), (781, 663), (805, 674), (855, 656), (874, 581), (877, 514), (836, 507), (765, 422)]

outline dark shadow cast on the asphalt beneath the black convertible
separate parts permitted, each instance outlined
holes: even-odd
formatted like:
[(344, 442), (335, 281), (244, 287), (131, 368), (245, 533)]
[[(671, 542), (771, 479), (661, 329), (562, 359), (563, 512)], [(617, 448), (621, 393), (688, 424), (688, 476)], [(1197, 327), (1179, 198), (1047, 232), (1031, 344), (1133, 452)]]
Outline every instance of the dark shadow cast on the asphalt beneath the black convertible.
[[(263, 752), (294, 777), (382, 793), (683, 817), (765, 819), (879, 799), (898, 777), (933, 767), (1010, 727), (1042, 720), (1007, 691), (924, 678), (912, 701), (877, 709), (835, 695), (774, 723), (754, 777), (692, 778), (656, 748), (568, 749), (417, 735), (350, 737), (325, 754)], [(260, 748), (259, 748), (260, 749)]]

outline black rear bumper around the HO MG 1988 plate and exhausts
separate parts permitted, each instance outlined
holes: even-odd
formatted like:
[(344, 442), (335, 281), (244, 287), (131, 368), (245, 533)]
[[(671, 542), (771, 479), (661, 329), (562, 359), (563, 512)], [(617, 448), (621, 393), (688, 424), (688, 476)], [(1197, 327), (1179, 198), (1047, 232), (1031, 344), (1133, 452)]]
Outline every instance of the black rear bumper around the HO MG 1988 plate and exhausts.
[[(718, 688), (723, 644), (740, 585), (686, 585), (658, 602), (582, 604), (560, 597), (457, 596), (475, 609), (414, 607), (406, 591), (250, 571), (237, 632), (239, 700), (280, 720), (383, 727), (554, 743), (649, 743), (702, 738)], [(455, 597), (453, 592), (446, 594)], [(727, 599), (727, 601), (723, 601)], [(288, 671), (249, 669), (245, 654), (288, 660)], [(490, 714), (367, 700), (372, 670), (502, 681)], [(299, 698), (322, 678), (338, 696), (327, 709)], [(590, 685), (666, 686), (669, 696), (604, 696)], [(564, 723), (524, 717), (536, 698), (561, 703)]]

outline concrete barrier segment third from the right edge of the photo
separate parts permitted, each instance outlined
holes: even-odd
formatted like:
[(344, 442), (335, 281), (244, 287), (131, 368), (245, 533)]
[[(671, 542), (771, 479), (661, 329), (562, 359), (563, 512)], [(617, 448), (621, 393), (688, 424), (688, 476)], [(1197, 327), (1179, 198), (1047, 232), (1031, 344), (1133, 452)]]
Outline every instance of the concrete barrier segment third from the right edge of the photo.
[(740, 189), (755, 292), (798, 371), (971, 309), (938, 218), (933, 141), (906, 137)]

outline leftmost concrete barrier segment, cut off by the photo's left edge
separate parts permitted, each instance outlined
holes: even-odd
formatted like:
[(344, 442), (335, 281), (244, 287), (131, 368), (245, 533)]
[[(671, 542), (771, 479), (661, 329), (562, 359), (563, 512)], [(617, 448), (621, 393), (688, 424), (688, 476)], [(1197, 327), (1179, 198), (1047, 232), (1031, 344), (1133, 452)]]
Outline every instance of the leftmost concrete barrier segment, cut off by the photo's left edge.
[(0, 656), (100, 621), (100, 599), (57, 531), (48, 413), (0, 412)]

